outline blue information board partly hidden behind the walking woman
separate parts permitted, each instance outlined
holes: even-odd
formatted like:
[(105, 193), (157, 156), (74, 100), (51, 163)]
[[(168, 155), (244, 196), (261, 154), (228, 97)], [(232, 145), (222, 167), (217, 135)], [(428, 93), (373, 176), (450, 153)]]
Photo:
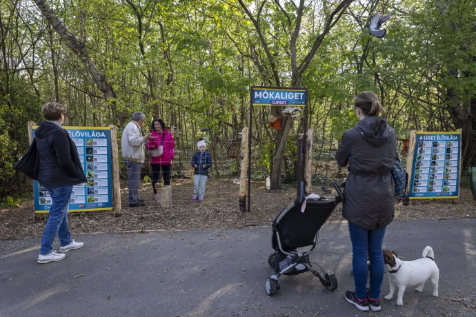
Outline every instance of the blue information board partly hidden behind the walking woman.
[[(72, 187), (70, 212), (112, 209), (112, 164), (110, 127), (63, 127), (75, 143), (86, 183)], [(37, 126), (32, 127), (32, 135)], [(34, 210), (47, 214), (52, 204), (50, 194), (34, 181)]]

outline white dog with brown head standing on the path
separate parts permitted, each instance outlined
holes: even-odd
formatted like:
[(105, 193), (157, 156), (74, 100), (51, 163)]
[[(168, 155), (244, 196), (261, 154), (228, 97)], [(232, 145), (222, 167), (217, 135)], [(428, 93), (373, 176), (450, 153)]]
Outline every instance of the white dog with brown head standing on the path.
[(429, 279), (433, 283), (433, 296), (438, 297), (438, 279), (439, 269), (435, 263), (435, 254), (431, 247), (425, 247), (423, 258), (413, 261), (402, 261), (397, 258), (397, 252), (384, 252), (385, 269), (390, 282), (390, 292), (385, 296), (390, 300), (398, 287), (397, 306), (404, 305), (403, 297), (405, 288), (408, 286), (419, 285), (415, 291), (422, 292), (425, 282)]

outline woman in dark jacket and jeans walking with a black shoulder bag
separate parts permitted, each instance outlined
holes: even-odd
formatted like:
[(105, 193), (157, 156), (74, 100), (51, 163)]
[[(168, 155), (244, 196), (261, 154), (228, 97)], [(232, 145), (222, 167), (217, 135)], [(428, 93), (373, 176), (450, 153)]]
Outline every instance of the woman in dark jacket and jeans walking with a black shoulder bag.
[(68, 227), (68, 205), (72, 186), (86, 182), (75, 143), (62, 124), (66, 112), (59, 103), (45, 103), (41, 108), (46, 121), (35, 131), (39, 154), (38, 181), (51, 196), (52, 206), (46, 223), (38, 263), (63, 260), (64, 253), (52, 251), (53, 241), (59, 236), (60, 252), (79, 249), (84, 243), (71, 239)]

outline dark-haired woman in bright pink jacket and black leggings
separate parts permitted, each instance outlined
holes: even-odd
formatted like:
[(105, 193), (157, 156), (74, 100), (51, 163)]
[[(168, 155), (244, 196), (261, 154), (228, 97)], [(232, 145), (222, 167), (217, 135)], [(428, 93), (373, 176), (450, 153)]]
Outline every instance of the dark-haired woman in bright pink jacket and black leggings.
[[(155, 183), (161, 180), (160, 171), (162, 169), (163, 183), (166, 186), (170, 185), (170, 174), (172, 173), (172, 160), (174, 159), (174, 136), (165, 129), (166, 125), (162, 119), (154, 119), (150, 129), (155, 139), (149, 139), (147, 148), (150, 151), (150, 163), (152, 165), (152, 189), (154, 196), (157, 199), (157, 190), (155, 190)], [(162, 147), (162, 154), (160, 153)]]

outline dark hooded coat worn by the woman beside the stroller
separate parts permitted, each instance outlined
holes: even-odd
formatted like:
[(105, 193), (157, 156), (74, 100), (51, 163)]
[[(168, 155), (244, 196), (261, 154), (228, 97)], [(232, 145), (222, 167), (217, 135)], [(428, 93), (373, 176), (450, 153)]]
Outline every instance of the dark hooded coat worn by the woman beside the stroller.
[(337, 163), (348, 163), (342, 216), (365, 229), (386, 227), (395, 214), (395, 131), (386, 119), (368, 116), (342, 136)]

